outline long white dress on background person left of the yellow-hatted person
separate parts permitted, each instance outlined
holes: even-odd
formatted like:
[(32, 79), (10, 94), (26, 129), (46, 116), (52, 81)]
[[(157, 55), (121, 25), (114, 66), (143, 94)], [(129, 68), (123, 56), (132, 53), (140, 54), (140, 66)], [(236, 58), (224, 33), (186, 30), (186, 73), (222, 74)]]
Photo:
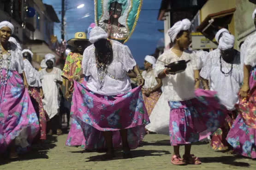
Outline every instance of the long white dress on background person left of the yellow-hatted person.
[(50, 119), (59, 113), (60, 108), (60, 85), (54, 80), (62, 81), (62, 71), (60, 68), (53, 68), (51, 73), (46, 71), (46, 68), (40, 70), (40, 79), (42, 81), (42, 89), (44, 99), (42, 100), (43, 108), (48, 113)]

